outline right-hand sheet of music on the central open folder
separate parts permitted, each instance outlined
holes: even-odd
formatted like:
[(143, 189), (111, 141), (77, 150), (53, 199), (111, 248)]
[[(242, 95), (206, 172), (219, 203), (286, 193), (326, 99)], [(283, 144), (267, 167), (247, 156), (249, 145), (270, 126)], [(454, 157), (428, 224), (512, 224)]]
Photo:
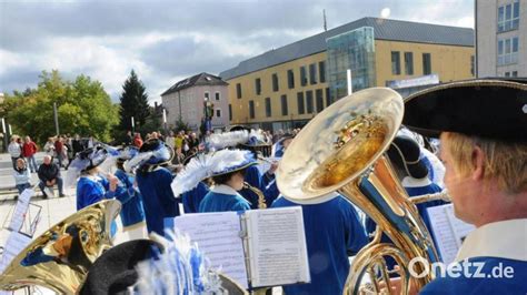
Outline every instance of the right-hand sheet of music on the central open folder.
[(246, 212), (253, 287), (310, 282), (300, 206)]

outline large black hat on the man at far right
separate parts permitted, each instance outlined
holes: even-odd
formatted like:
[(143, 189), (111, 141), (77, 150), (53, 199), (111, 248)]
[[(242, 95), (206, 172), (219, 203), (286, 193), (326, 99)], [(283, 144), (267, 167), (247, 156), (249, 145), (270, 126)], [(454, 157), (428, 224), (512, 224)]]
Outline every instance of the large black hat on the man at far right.
[(444, 131), (527, 142), (527, 79), (479, 79), (432, 87), (405, 100), (402, 124), (426, 136)]

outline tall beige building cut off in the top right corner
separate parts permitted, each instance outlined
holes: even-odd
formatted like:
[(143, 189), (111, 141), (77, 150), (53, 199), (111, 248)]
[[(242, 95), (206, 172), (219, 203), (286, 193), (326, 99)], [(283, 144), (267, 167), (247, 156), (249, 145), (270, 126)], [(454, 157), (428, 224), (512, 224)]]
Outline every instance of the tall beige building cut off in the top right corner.
[(527, 0), (476, 0), (477, 75), (527, 77)]

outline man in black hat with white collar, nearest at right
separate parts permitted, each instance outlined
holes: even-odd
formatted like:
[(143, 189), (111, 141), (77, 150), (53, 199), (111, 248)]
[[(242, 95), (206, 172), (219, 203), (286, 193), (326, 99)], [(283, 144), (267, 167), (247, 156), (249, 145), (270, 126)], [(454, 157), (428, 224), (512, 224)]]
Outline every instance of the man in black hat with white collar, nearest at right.
[[(476, 226), (455, 260), (468, 275), (447, 272), (424, 294), (527, 292), (525, 82), (454, 82), (412, 94), (405, 103), (404, 124), (424, 135), (440, 133), (455, 214)], [(493, 277), (496, 267), (508, 268), (508, 276)]]

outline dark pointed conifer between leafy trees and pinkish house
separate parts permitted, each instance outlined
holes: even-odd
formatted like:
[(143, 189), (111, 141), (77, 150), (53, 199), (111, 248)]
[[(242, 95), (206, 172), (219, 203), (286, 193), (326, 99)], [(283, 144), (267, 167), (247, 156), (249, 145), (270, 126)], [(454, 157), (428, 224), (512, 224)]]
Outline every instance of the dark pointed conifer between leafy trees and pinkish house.
[(132, 70), (130, 77), (122, 85), (120, 98), (120, 129), (128, 131), (132, 129), (131, 118), (133, 116), (136, 129), (141, 129), (150, 116), (150, 106), (148, 105), (148, 95), (145, 85)]

